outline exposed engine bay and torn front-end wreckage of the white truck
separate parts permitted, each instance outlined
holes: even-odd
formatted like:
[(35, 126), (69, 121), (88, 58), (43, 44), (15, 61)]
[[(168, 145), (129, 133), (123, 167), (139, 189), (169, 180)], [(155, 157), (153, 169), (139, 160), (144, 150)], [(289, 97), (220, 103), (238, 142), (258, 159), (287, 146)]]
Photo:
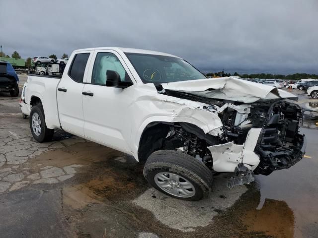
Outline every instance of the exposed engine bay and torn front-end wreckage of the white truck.
[[(244, 104), (174, 90), (164, 94), (208, 104), (203, 109), (222, 120), (223, 126), (209, 133), (190, 123), (174, 123), (161, 143), (165, 149), (177, 149), (202, 160), (212, 171), (220, 172), (216, 170), (219, 161), (213, 156), (217, 153), (233, 162), (233, 172), (243, 168), (262, 175), (293, 166), (305, 153), (304, 135), (298, 133), (302, 109), (290, 100)], [(244, 154), (246, 147), (252, 148), (252, 153)]]

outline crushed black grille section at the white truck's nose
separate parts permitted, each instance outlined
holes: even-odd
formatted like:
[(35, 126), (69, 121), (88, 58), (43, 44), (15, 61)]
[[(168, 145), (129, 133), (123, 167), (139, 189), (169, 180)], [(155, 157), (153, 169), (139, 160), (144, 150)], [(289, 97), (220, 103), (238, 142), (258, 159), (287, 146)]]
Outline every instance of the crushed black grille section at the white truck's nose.
[(288, 169), (305, 154), (305, 135), (298, 133), (303, 118), (301, 107), (281, 100), (271, 105), (267, 115), (255, 147), (260, 163), (254, 174), (269, 175)]

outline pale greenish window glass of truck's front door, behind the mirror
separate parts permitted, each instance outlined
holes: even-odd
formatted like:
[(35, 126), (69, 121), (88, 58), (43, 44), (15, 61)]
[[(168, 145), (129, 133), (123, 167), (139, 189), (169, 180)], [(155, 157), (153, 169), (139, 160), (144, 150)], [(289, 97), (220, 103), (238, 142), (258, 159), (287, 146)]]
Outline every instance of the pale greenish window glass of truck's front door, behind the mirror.
[(114, 54), (99, 52), (94, 62), (91, 83), (106, 85), (107, 70), (116, 71), (120, 75), (121, 81), (132, 82), (123, 65)]

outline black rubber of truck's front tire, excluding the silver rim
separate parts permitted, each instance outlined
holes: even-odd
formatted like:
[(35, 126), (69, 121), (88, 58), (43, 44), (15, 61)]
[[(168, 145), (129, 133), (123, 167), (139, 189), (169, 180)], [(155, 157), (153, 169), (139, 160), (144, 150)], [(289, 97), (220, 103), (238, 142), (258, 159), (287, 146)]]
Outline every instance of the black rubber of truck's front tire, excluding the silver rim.
[[(180, 197), (160, 188), (155, 181), (155, 176), (165, 172), (188, 180), (194, 186), (195, 193), (191, 197)], [(159, 191), (174, 198), (191, 201), (207, 197), (211, 191), (213, 181), (212, 172), (202, 162), (190, 155), (174, 150), (159, 150), (152, 153), (146, 161), (144, 176)]]

